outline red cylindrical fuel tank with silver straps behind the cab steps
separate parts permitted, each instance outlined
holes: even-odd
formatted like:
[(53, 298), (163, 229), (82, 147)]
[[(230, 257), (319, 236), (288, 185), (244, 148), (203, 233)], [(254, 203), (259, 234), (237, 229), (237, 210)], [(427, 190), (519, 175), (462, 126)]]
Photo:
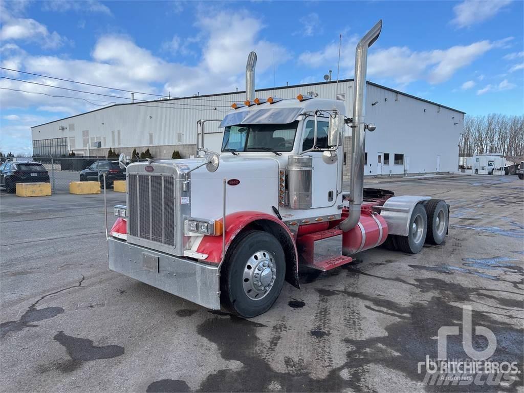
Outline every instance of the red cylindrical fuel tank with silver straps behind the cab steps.
[[(388, 224), (380, 214), (371, 209), (371, 206), (363, 205), (358, 224), (352, 230), (342, 234), (343, 255), (351, 256), (377, 247), (386, 241)], [(342, 219), (344, 219), (344, 212), (342, 212)]]

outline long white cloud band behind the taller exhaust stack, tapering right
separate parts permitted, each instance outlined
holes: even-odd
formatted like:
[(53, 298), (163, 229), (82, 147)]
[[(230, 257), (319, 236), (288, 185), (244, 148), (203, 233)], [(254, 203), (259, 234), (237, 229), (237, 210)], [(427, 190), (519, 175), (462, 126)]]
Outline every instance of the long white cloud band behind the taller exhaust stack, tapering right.
[[(449, 80), (453, 74), (473, 63), (487, 51), (505, 45), (508, 37), (500, 41), (478, 41), (470, 45), (457, 45), (447, 49), (413, 51), (408, 47), (372, 48), (368, 56), (368, 77), (390, 78), (400, 86), (416, 80), (431, 84)], [(352, 75), (354, 68), (354, 48), (357, 38), (345, 42), (341, 51), (341, 75)], [(300, 54), (301, 64), (311, 68), (331, 68), (337, 64), (338, 42), (331, 42), (324, 49)]]

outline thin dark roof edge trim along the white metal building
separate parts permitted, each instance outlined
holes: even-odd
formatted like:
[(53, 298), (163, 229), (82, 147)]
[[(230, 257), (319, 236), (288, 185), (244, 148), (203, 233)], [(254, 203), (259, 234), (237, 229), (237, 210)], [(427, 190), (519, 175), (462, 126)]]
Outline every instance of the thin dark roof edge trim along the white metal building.
[[(324, 84), (333, 84), (333, 83), (337, 83), (337, 82), (338, 83), (344, 83), (344, 82), (353, 82), (353, 81), (354, 81), (354, 79), (351, 78), (351, 79), (341, 79), (339, 81), (293, 84), (293, 85), (288, 85), (288, 86), (278, 86), (276, 88), (256, 89), (255, 92), (272, 91), (272, 90), (283, 90), (283, 89), (290, 89), (290, 88), (302, 88), (302, 87), (305, 87), (305, 86), (316, 86), (316, 85), (324, 85)], [(441, 108), (446, 108), (446, 109), (449, 109), (450, 111), (466, 114), (466, 112), (462, 112), (462, 111), (456, 110), (456, 109), (454, 109), (452, 107), (441, 105), (441, 104), (438, 104), (438, 103), (433, 102), (433, 101), (425, 100), (425, 99), (422, 99), (420, 97), (417, 97), (417, 96), (414, 96), (414, 95), (411, 95), (411, 94), (408, 94), (408, 93), (401, 92), (399, 90), (391, 89), (391, 88), (388, 88), (386, 86), (380, 85), (378, 83), (367, 81), (367, 84), (372, 85), (372, 86), (376, 86), (376, 87), (381, 88), (381, 89), (389, 90), (389, 91), (394, 92), (394, 93), (405, 95), (405, 96), (410, 97), (410, 98), (415, 99), (415, 100), (419, 100), (419, 101), (427, 102), (427, 103), (432, 104), (432, 105), (440, 106)], [(200, 98), (206, 98), (206, 97), (220, 97), (220, 96), (224, 96), (224, 95), (239, 94), (239, 93), (240, 94), (245, 93), (245, 90), (226, 92), (226, 93), (216, 93), (216, 94), (203, 94), (203, 95), (197, 95), (197, 96), (190, 95), (190, 96), (175, 97), (175, 98), (172, 98), (172, 99), (165, 99), (165, 100), (150, 100), (150, 101), (139, 101), (139, 102), (127, 102), (127, 103), (121, 103), (121, 104), (113, 104), (113, 105), (104, 106), (102, 108), (97, 108), (97, 109), (94, 109), (92, 111), (79, 113), (78, 115), (71, 115), (71, 116), (63, 117), (61, 119), (53, 120), (53, 121), (50, 121), (50, 122), (47, 122), (47, 123), (42, 123), (42, 124), (39, 124), (39, 125), (36, 125), (36, 126), (32, 126), (31, 128), (45, 126), (45, 125), (51, 124), (51, 123), (63, 122), (64, 120), (67, 120), (67, 119), (70, 119), (70, 118), (73, 118), (73, 117), (78, 117), (78, 116), (83, 116), (83, 115), (86, 115), (86, 114), (89, 114), (89, 113), (103, 111), (105, 109), (112, 108), (114, 106), (148, 104), (148, 103), (155, 103), (155, 102), (179, 101), (179, 100), (189, 100), (189, 99), (200, 99)]]

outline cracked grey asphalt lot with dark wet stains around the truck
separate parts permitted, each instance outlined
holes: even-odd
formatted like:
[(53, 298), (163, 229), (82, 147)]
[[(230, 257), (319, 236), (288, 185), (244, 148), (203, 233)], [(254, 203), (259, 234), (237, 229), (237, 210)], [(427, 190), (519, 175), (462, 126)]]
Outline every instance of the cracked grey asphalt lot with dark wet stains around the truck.
[[(368, 250), (301, 272), (274, 307), (242, 320), (108, 270), (102, 195), (0, 195), (0, 391), (524, 391), (522, 373), (428, 386), (438, 330), (473, 326), (492, 359), (523, 367), (524, 182), (399, 179), (366, 187), (451, 204), (449, 235), (418, 255)], [(112, 206), (125, 195), (108, 192)], [(447, 336), (447, 357), (466, 358)], [(473, 333), (480, 351), (486, 337)], [(481, 381), (482, 382), (482, 381)]]

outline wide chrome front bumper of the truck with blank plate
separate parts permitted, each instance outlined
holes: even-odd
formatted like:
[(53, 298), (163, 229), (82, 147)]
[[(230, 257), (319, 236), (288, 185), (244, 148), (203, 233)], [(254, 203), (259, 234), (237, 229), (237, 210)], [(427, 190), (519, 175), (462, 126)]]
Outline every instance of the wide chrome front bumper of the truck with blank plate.
[(114, 238), (109, 243), (109, 268), (203, 307), (220, 310), (217, 266), (159, 253)]

